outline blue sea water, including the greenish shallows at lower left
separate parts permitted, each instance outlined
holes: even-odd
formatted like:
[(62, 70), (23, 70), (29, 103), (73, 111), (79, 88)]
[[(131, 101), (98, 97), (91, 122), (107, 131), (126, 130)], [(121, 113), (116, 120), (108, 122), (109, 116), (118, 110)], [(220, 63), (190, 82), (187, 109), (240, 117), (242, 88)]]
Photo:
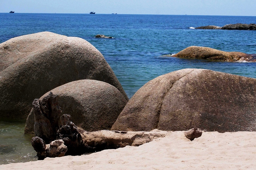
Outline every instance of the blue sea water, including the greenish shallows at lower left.
[[(191, 29), (236, 23), (256, 23), (256, 17), (0, 13), (0, 43), (43, 31), (83, 38), (103, 54), (131, 98), (149, 80), (184, 68), (211, 69), (256, 78), (256, 63), (166, 56), (192, 45), (255, 54), (256, 31)], [(94, 38), (97, 34), (114, 38)], [(37, 160), (30, 144), (31, 136), (23, 132), (24, 121), (0, 119), (0, 164)]]

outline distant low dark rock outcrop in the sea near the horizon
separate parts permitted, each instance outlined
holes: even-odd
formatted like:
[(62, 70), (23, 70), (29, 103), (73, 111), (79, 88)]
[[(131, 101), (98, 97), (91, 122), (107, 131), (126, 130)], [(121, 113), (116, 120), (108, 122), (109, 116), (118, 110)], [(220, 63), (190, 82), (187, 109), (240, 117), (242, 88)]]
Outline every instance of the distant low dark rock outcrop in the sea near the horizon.
[(256, 30), (255, 24), (227, 24), (223, 27), (218, 26), (202, 26), (195, 29), (218, 29), (218, 30)]

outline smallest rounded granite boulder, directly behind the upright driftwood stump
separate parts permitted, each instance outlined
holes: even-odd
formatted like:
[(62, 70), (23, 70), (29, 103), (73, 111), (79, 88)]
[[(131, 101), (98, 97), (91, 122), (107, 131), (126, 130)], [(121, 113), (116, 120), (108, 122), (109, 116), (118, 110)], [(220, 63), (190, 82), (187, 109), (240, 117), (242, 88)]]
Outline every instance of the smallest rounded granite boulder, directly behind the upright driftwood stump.
[[(53, 128), (47, 128), (45, 131), (43, 131), (43, 128), (37, 129), (37, 133), (41, 134), (37, 136), (41, 138), (47, 136), (47, 138), (55, 139), (54, 134), (56, 132), (54, 131), (59, 124), (59, 116), (62, 114), (70, 114), (72, 121), (86, 131), (110, 130), (127, 103), (125, 97), (116, 87), (97, 80), (72, 81), (56, 87), (51, 92), (58, 98), (50, 97), (49, 92), (47, 92), (38, 100), (40, 106), (37, 107), (38, 104), (35, 101), (33, 102), (34, 107), (26, 121), (26, 134), (34, 133), (34, 128), (37, 128), (37, 124), (43, 120), (41, 115), (57, 115), (48, 117), (47, 119), (50, 119), (50, 121), (43, 122), (44, 125), (49, 124), (47, 122), (56, 122)], [(46, 106), (44, 106), (44, 103), (46, 103)], [(58, 103), (61, 111), (58, 111), (59, 107), (55, 106), (56, 103)], [(42, 110), (46, 107), (48, 108), (47, 111)], [(49, 112), (48, 110), (54, 110), (54, 113), (44, 113)], [(34, 114), (38, 115), (35, 119)], [(34, 120), (36, 121), (35, 126)], [(52, 129), (53, 132), (50, 132), (49, 129)]]

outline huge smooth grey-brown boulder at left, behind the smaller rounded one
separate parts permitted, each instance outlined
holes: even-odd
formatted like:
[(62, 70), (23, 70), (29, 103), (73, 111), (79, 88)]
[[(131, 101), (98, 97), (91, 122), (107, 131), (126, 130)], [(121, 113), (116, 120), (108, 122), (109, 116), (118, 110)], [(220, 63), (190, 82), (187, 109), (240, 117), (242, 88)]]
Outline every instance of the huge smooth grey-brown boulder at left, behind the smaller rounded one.
[(128, 101), (102, 54), (81, 38), (41, 32), (0, 44), (0, 117), (26, 119), (35, 98), (71, 81), (115, 86)]

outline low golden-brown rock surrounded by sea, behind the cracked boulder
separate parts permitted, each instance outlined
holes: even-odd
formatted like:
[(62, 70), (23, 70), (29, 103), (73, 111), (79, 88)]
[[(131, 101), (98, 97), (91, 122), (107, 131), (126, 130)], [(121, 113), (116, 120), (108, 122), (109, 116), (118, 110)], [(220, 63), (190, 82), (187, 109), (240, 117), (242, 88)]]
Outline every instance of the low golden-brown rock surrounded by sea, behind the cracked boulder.
[(191, 46), (174, 54), (172, 57), (222, 60), (228, 62), (256, 62), (256, 54), (245, 54), (241, 52), (226, 52), (209, 47)]

